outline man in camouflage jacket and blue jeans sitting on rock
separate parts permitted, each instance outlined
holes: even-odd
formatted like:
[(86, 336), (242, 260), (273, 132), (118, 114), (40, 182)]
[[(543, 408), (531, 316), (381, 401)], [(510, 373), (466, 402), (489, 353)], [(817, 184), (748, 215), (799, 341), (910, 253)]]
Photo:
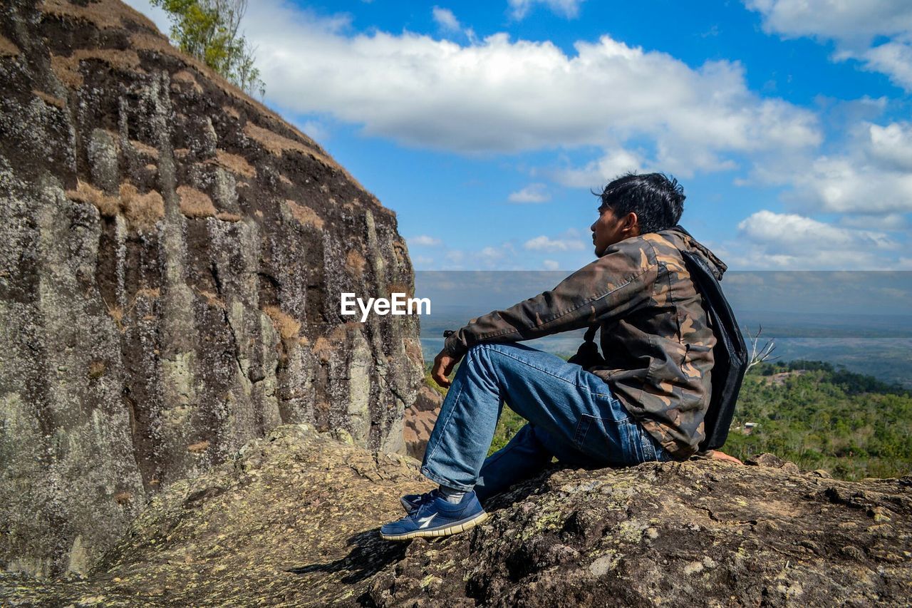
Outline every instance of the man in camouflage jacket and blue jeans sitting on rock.
[[(384, 539), (472, 528), (487, 518), (480, 501), (533, 477), (553, 456), (592, 468), (697, 451), (716, 338), (680, 251), (698, 253), (719, 276), (725, 265), (676, 227), (685, 196), (664, 174), (629, 173), (600, 198), (590, 226), (596, 261), (447, 338), (431, 375), (450, 390), (421, 466), (440, 487), (403, 497), (409, 515), (383, 526)], [(586, 370), (515, 343), (593, 324), (605, 362)], [(504, 401), (529, 424), (485, 459)]]

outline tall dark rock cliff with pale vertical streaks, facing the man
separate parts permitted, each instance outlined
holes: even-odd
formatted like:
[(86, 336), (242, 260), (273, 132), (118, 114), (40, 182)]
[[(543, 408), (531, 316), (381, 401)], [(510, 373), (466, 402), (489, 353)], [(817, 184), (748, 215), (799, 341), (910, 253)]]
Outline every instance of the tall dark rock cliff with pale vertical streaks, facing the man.
[(0, 563), (85, 571), (276, 425), (404, 451), (396, 217), (116, 0), (0, 6)]

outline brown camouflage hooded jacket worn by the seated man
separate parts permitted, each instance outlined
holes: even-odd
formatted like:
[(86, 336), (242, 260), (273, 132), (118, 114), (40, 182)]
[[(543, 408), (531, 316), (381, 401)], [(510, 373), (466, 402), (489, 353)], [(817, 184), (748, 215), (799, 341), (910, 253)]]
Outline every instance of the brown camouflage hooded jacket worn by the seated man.
[(627, 238), (557, 287), (455, 331), (444, 350), (461, 357), (481, 342), (513, 342), (600, 324), (605, 364), (588, 368), (650, 435), (685, 459), (702, 441), (716, 343), (681, 257), (690, 250), (721, 278), (726, 267), (671, 228)]

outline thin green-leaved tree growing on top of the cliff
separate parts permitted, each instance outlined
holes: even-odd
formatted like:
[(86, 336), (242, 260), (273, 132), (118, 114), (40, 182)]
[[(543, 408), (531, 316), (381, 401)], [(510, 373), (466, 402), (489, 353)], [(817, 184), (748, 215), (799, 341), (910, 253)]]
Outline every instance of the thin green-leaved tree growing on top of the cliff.
[(171, 39), (249, 95), (265, 95), (254, 48), (239, 32), (247, 0), (151, 0), (171, 18)]

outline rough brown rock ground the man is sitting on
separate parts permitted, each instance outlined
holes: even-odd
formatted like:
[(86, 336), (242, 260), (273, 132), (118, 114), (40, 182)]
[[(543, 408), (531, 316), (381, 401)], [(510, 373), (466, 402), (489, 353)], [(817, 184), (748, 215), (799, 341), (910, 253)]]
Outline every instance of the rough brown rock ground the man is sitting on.
[(907, 605), (912, 478), (763, 456), (552, 470), (445, 539), (385, 542), (407, 456), (283, 425), (150, 502), (90, 572), (0, 574), (13, 605)]

